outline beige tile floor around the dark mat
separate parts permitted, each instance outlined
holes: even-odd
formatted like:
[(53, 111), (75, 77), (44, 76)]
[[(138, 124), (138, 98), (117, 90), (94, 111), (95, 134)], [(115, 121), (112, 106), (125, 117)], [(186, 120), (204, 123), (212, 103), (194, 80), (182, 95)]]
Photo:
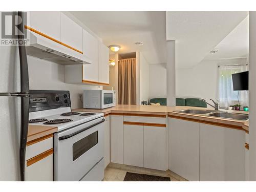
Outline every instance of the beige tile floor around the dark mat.
[(110, 163), (105, 168), (105, 177), (103, 181), (123, 181), (126, 172), (169, 177), (171, 181), (187, 181), (186, 179), (169, 170), (165, 172), (161, 170), (135, 167), (130, 165), (120, 165), (115, 163)]

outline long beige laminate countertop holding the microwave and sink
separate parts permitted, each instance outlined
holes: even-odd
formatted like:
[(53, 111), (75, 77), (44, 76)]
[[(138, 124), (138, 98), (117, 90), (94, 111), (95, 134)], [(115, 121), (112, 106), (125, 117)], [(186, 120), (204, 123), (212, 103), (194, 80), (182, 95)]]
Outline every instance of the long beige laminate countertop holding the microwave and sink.
[[(232, 126), (240, 126), (246, 132), (249, 130), (249, 122), (242, 121), (242, 120), (234, 120), (234, 119), (224, 119), (219, 117), (210, 117), (206, 115), (196, 115), (196, 114), (184, 114), (178, 113), (175, 111), (184, 110), (184, 109), (201, 109), (201, 110), (214, 110), (212, 108), (197, 108), (194, 106), (154, 106), (154, 105), (116, 105), (112, 108), (107, 109), (73, 109), (72, 111), (78, 112), (102, 112), (104, 115), (108, 114), (152, 114), (152, 115), (169, 115), (181, 118), (189, 118), (198, 121), (205, 121), (205, 122), (214, 122), (221, 124), (229, 124)], [(232, 112), (232, 113), (241, 113), (241, 114), (248, 114), (248, 112), (244, 111), (230, 111), (230, 110), (220, 110), (225, 112)]]

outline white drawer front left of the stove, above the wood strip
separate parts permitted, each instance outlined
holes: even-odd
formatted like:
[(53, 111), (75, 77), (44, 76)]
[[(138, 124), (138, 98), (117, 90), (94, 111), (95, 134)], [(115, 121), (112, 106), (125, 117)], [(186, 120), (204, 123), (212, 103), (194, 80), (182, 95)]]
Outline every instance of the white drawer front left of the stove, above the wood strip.
[(53, 136), (42, 141), (27, 145), (26, 160), (44, 153), (53, 148)]

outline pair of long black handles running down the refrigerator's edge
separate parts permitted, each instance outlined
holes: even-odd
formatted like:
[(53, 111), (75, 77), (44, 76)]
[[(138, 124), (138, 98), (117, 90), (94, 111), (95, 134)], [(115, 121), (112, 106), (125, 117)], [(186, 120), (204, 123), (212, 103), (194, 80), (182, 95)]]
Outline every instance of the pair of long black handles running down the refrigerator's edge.
[[(18, 16), (22, 18), (22, 22), (18, 25), (19, 31), (25, 33), (23, 23), (23, 12), (18, 11)], [(24, 34), (18, 35), (18, 40), (24, 41)], [(20, 118), (20, 143), (19, 143), (19, 169), (20, 181), (25, 181), (25, 155), (29, 126), (29, 74), (28, 61), (25, 44), (18, 44), (19, 62), (20, 62), (20, 93), (16, 96), (21, 97), (21, 118)]]

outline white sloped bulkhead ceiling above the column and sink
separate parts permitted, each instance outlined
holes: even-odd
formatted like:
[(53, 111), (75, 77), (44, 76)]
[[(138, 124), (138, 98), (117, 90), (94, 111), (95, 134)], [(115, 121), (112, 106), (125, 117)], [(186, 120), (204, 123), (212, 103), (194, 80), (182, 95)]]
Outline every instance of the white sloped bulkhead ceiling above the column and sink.
[(166, 11), (166, 39), (176, 40), (176, 66), (197, 65), (247, 15), (247, 11)]

